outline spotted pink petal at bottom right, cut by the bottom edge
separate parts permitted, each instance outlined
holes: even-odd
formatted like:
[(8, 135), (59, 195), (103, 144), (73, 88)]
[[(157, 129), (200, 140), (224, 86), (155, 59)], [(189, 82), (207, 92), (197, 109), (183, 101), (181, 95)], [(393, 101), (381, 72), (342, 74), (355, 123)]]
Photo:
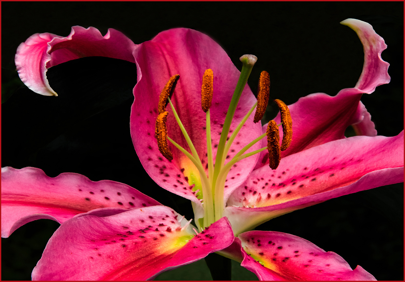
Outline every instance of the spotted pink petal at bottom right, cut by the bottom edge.
[(260, 280), (376, 280), (359, 265), (352, 270), (338, 254), (325, 252), (298, 236), (249, 231), (238, 237), (245, 255), (241, 265)]

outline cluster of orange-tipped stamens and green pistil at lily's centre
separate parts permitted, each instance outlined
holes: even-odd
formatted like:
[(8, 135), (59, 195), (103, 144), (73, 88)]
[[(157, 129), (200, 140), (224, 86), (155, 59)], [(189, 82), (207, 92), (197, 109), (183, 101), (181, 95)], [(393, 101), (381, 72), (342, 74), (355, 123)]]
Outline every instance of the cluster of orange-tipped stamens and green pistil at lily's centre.
[[(206, 144), (207, 144), (207, 164), (203, 165), (196, 148), (194, 147), (192, 140), (190, 139), (185, 127), (181, 123), (179, 119), (179, 115), (177, 114), (175, 107), (171, 102), (171, 95), (175, 90), (175, 86), (177, 81), (179, 80), (179, 75), (172, 76), (169, 81), (166, 83), (162, 93), (159, 96), (159, 105), (158, 105), (158, 117), (156, 119), (156, 130), (155, 135), (158, 141), (158, 147), (160, 153), (168, 159), (172, 160), (173, 155), (168, 147), (167, 140), (171, 142), (174, 146), (176, 146), (183, 154), (184, 158), (181, 158), (182, 165), (184, 164), (184, 168), (187, 167), (187, 172), (184, 171), (183, 173), (188, 176), (189, 184), (194, 184), (193, 191), (196, 191), (196, 196), (203, 204), (204, 208), (204, 216), (203, 218), (198, 219), (198, 223), (200, 228), (203, 229), (204, 227), (208, 227), (211, 223), (219, 220), (222, 217), (222, 213), (224, 210), (224, 188), (226, 182), (226, 176), (228, 175), (232, 165), (250, 157), (254, 154), (260, 153), (268, 149), (269, 151), (269, 166), (271, 169), (276, 169), (280, 162), (280, 153), (288, 148), (292, 139), (292, 120), (290, 116), (290, 111), (286, 104), (284, 104), (281, 100), (275, 100), (276, 104), (279, 106), (281, 112), (281, 124), (283, 126), (283, 140), (281, 146), (279, 144), (279, 129), (277, 123), (275, 121), (270, 121), (267, 127), (266, 133), (258, 136), (252, 142), (247, 144), (243, 147), (234, 157), (225, 164), (225, 160), (229, 157), (228, 152), (230, 150), (230, 146), (232, 142), (234, 142), (237, 134), (241, 130), (242, 126), (245, 124), (247, 119), (252, 114), (253, 110), (256, 108), (255, 116), (254, 116), (254, 123), (259, 122), (264, 112), (266, 111), (267, 103), (269, 100), (269, 87), (270, 87), (270, 79), (269, 74), (263, 71), (260, 74), (259, 78), (259, 89), (258, 89), (258, 101), (254, 104), (254, 106), (247, 112), (245, 117), (241, 120), (239, 125), (233, 131), (230, 131), (230, 126), (232, 123), (232, 119), (234, 117), (234, 113), (236, 111), (239, 98), (241, 97), (241, 93), (247, 83), (247, 78), (249, 77), (250, 72), (257, 60), (256, 56), (254, 55), (243, 55), (240, 60), (243, 63), (243, 67), (241, 70), (241, 74), (239, 76), (239, 80), (235, 91), (232, 95), (232, 99), (230, 105), (228, 107), (228, 111), (226, 113), (225, 121), (222, 126), (222, 132), (220, 141), (217, 145), (217, 153), (215, 156), (215, 165), (213, 163), (213, 150), (211, 144), (211, 120), (210, 120), (210, 107), (211, 101), (213, 97), (213, 71), (208, 69), (205, 71), (203, 75), (203, 83), (201, 86), (201, 108), (206, 113)], [(189, 146), (189, 150), (181, 147), (177, 144), (173, 139), (170, 138), (167, 134), (166, 128), (166, 117), (168, 112), (166, 111), (167, 104), (170, 104), (175, 119), (181, 129), (181, 132)], [(257, 107), (256, 107), (257, 106)], [(232, 132), (232, 135), (228, 137), (228, 133)], [(267, 147), (260, 148), (259, 150), (252, 151), (249, 153), (245, 153), (249, 148), (251, 148), (254, 144), (262, 140), (267, 136)], [(196, 170), (198, 171), (198, 174)], [(205, 172), (205, 169), (208, 170), (208, 175)], [(197, 220), (197, 218), (196, 218)]]

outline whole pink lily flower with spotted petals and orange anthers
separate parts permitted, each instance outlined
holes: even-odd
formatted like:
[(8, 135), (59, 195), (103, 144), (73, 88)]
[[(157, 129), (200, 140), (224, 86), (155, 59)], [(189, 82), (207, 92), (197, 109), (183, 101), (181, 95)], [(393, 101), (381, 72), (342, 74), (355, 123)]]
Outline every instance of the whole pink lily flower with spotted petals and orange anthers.
[[(388, 63), (380, 57), (386, 45), (371, 25), (354, 19), (342, 23), (357, 32), (364, 46), (364, 67), (356, 86), (334, 97), (311, 94), (289, 110), (277, 101), (281, 117), (263, 127), (254, 121), (265, 108), (261, 97), (269, 86), (266, 73), (260, 78), (259, 101), (245, 86), (254, 56), (241, 58), (244, 67), (239, 73), (217, 43), (189, 29), (161, 32), (141, 45), (124, 40), (138, 67), (130, 117), (135, 150), (153, 180), (192, 201), (198, 231), (174, 210), (125, 184), (3, 168), (3, 237), (38, 218), (62, 223), (33, 279), (152, 279), (161, 271), (219, 252), (240, 261), (260, 280), (374, 280), (360, 266), (352, 270), (339, 255), (302, 238), (249, 231), (293, 210), (403, 180), (403, 132), (376, 136), (360, 102), (362, 93), (389, 82)], [(32, 44), (38, 47), (36, 55), (41, 54), (34, 66), (23, 59), (29, 50), (24, 55), (17, 52), (21, 79), (36, 85), (41, 94), (52, 93), (45, 72), (56, 64), (49, 62), (58, 62), (53, 49), (60, 54), (68, 53), (66, 46), (75, 50), (77, 30), (82, 35), (78, 48), (84, 50), (76, 53), (86, 54), (85, 34), (94, 30), (74, 27), (66, 38), (50, 35), (38, 46)], [(111, 40), (107, 35), (95, 37)], [(94, 36), (89, 38), (93, 42)], [(104, 55), (109, 56), (111, 46), (101, 48)], [(40, 73), (30, 81), (28, 74), (34, 70)], [(251, 115), (256, 102), (258, 119)], [(352, 124), (361, 136), (345, 138), (344, 130)]]

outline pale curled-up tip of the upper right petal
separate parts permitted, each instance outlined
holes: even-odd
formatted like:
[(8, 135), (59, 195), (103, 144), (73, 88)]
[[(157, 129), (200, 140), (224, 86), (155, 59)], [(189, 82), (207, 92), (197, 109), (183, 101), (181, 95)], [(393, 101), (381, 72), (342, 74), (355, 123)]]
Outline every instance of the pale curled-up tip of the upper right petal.
[(363, 93), (373, 93), (375, 87), (391, 80), (387, 72), (390, 64), (381, 58), (381, 53), (387, 49), (387, 45), (369, 23), (358, 19), (345, 19), (341, 24), (347, 25), (357, 33), (364, 49), (363, 71), (355, 87)]

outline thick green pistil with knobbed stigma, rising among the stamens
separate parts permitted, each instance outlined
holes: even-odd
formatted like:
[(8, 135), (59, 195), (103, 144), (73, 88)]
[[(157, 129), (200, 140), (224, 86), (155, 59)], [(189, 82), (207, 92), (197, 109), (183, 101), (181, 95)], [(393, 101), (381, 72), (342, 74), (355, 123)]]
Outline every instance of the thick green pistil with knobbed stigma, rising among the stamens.
[[(218, 144), (217, 155), (215, 158), (215, 167), (214, 167), (214, 174), (213, 174), (213, 181), (212, 181), (212, 194), (214, 195), (215, 199), (217, 199), (217, 197), (215, 197), (215, 192), (216, 192), (215, 183), (217, 181), (218, 175), (220, 174), (221, 168), (223, 167), (224, 161), (225, 161), (223, 156), (224, 156), (226, 138), (228, 138), (228, 132), (229, 132), (230, 125), (232, 123), (232, 119), (235, 114), (236, 108), (238, 106), (239, 98), (241, 97), (242, 91), (245, 88), (245, 85), (247, 83), (247, 78), (249, 77), (250, 72), (252, 72), (252, 68), (254, 65), (246, 57), (241, 59), (241, 61), (243, 63), (241, 75), (239, 76), (238, 83), (236, 85), (235, 91), (232, 95), (232, 99), (231, 99), (229, 107), (228, 107), (228, 112), (226, 113), (224, 126), (222, 127), (220, 142)], [(223, 188), (222, 188), (222, 191), (223, 191)], [(223, 195), (223, 192), (222, 192), (222, 195)], [(223, 201), (223, 198), (220, 201)], [(215, 204), (219, 204), (220, 201), (215, 201)], [(223, 204), (220, 204), (220, 206), (223, 206)], [(216, 209), (216, 210), (218, 210), (218, 209)], [(220, 214), (222, 214), (222, 210), (220, 211)]]

